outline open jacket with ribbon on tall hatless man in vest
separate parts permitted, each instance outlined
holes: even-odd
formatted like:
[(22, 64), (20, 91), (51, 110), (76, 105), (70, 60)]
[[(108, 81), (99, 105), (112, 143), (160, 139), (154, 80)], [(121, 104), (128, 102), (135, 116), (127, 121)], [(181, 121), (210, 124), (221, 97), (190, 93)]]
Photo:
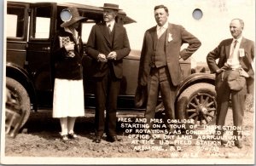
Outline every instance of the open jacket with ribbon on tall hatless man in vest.
[[(151, 57), (154, 54), (155, 35), (156, 26), (145, 32), (138, 74), (138, 85), (145, 86), (148, 83), (148, 75), (152, 63)], [(181, 51), (180, 49), (183, 43), (189, 43), (189, 46)], [(200, 46), (201, 42), (189, 33), (189, 31), (186, 31), (183, 26), (169, 23), (166, 33), (166, 61), (174, 86), (177, 86), (182, 81), (182, 71), (178, 61), (179, 57), (187, 60)]]

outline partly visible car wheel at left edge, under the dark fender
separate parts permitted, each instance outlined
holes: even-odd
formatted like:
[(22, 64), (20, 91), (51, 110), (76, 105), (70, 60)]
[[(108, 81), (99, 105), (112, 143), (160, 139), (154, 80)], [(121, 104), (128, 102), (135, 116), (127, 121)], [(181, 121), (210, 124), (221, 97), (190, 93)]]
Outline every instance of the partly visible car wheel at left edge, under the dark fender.
[(9, 89), (12, 99), (25, 111), (24, 119), (20, 125), (20, 128), (26, 123), (30, 112), (30, 98), (26, 92), (26, 89), (15, 79), (6, 77), (6, 88)]

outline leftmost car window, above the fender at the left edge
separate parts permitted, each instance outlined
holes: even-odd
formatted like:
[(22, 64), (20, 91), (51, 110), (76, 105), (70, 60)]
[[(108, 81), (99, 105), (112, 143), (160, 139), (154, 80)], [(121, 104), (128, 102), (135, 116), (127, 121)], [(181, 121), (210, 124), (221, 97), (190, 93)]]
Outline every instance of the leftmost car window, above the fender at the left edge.
[(7, 9), (6, 20), (8, 25), (6, 27), (7, 37), (23, 37), (24, 35), (24, 11), (25, 7), (9, 7)]

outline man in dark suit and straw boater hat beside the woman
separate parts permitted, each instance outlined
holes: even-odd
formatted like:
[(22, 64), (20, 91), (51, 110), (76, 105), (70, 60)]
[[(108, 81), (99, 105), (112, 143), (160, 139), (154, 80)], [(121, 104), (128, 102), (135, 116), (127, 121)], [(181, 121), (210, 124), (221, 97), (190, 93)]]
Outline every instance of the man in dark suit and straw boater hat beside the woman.
[(106, 134), (110, 142), (121, 141), (116, 135), (117, 99), (123, 77), (123, 58), (131, 49), (125, 27), (115, 22), (119, 6), (105, 3), (104, 22), (92, 27), (86, 53), (92, 57), (96, 80), (96, 138), (100, 143), (104, 133), (104, 111), (107, 111)]

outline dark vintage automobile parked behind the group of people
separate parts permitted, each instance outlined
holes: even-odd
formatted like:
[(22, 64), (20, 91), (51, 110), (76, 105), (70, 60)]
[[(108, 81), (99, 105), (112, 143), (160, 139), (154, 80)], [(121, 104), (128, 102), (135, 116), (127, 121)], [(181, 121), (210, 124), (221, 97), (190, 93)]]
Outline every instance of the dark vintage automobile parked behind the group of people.
[[(79, 27), (85, 46), (90, 27), (102, 21), (101, 8), (77, 3), (7, 2), (6, 87), (22, 109), (26, 110), (21, 126), (26, 123), (31, 111), (52, 107), (51, 40), (60, 28), (62, 9), (71, 6), (78, 8), (79, 13), (87, 18)], [(116, 21), (124, 25), (136, 22), (122, 10)], [(143, 114), (145, 111), (145, 106), (137, 108), (134, 104), (139, 60), (139, 50), (132, 50), (123, 60), (124, 77), (118, 100), (119, 114)], [(183, 82), (177, 90), (177, 118), (194, 119), (199, 124), (212, 122), (216, 112), (214, 77), (210, 73), (192, 74), (190, 60), (180, 60), (180, 64)], [(91, 66), (91, 59), (85, 53), (83, 66), (85, 111), (94, 111), (94, 83), (90, 77), (90, 69), (94, 66)], [(156, 112), (164, 111), (160, 99)]]

